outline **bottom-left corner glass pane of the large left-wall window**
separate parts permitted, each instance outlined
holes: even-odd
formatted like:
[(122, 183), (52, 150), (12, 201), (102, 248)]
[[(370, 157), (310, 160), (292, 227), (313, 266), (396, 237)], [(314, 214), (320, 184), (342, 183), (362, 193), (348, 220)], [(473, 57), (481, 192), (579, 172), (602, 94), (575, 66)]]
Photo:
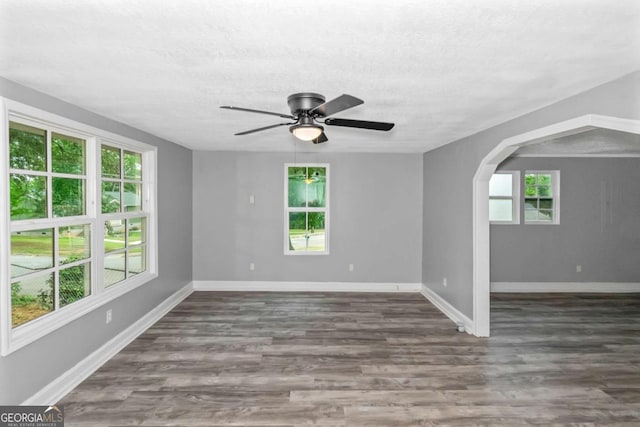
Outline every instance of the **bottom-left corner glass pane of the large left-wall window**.
[(53, 273), (11, 284), (12, 327), (51, 313), (53, 309)]

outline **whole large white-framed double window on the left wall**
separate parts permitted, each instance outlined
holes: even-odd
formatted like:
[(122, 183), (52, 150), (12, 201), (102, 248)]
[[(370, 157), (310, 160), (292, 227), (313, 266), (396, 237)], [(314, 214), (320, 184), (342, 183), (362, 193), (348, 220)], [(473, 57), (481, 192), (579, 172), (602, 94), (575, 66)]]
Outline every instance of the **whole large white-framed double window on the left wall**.
[(6, 355), (157, 276), (156, 149), (0, 105), (8, 117), (0, 126), (8, 138), (0, 153)]

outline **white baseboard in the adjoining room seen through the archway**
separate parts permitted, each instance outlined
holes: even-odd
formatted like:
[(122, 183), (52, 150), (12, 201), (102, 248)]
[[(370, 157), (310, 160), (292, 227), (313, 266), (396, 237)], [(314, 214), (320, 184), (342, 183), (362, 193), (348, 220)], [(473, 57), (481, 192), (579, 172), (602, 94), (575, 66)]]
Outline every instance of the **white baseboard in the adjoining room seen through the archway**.
[(640, 292), (640, 283), (633, 283), (633, 282), (491, 282), (491, 292), (630, 293), (630, 292)]

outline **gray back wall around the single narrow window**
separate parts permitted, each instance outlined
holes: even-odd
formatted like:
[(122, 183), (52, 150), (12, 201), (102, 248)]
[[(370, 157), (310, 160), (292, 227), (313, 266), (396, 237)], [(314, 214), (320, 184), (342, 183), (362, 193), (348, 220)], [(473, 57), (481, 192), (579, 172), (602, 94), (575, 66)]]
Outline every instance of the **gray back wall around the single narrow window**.
[(330, 164), (327, 256), (283, 253), (284, 164), (293, 161), (194, 152), (194, 280), (420, 282), (421, 155), (298, 153), (298, 163)]

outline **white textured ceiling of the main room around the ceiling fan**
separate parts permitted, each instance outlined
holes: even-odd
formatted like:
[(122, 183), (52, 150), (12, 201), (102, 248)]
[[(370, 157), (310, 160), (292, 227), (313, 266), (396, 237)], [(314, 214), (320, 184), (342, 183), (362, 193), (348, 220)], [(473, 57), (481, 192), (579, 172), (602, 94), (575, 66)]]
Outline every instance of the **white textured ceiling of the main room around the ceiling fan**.
[(396, 127), (300, 149), (422, 152), (640, 69), (640, 1), (3, 0), (0, 36), (0, 76), (194, 149), (292, 150), (218, 107), (318, 92)]

